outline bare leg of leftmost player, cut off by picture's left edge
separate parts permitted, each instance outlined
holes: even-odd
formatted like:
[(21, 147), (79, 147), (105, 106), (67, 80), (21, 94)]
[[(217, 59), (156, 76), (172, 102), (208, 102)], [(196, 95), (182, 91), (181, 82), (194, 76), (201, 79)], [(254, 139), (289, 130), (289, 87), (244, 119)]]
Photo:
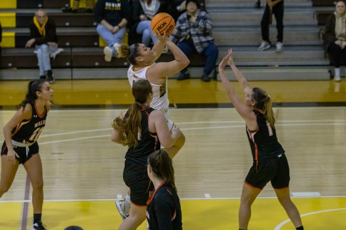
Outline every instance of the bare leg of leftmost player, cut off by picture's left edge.
[(15, 179), (18, 166), (18, 160), (16, 160), (15, 164), (11, 164), (11, 162), (7, 159), (7, 155), (1, 155), (0, 198), (11, 187), (12, 182)]

